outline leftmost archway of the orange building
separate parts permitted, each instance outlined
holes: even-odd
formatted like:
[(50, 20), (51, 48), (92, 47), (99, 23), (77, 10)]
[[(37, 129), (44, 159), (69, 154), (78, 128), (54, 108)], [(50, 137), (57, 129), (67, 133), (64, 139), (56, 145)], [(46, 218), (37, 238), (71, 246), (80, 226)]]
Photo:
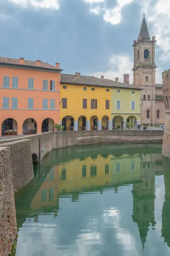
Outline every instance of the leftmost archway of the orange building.
[(13, 118), (7, 118), (2, 122), (2, 136), (7, 135), (17, 135), (18, 134), (18, 124)]

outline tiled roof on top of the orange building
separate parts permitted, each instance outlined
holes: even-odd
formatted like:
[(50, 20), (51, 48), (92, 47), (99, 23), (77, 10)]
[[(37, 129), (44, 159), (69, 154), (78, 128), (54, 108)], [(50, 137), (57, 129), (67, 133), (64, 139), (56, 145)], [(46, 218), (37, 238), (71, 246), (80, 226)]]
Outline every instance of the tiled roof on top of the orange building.
[(38, 66), (36, 61), (26, 61), (26, 60), (23, 60), (23, 61), (24, 61), (24, 64), (20, 64), (20, 59), (0, 57), (0, 64), (10, 64), (10, 65), (17, 65), (17, 66), (26, 66), (26, 67), (35, 67), (35, 68), (62, 71), (62, 69), (56, 68), (55, 66), (48, 64), (46, 62), (40, 62), (40, 66)]

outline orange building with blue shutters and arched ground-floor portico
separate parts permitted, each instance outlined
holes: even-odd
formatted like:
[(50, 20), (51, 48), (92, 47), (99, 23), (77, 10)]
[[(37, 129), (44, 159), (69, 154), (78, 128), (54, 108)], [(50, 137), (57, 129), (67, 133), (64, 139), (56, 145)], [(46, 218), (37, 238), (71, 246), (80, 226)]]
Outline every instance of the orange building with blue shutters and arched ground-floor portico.
[(61, 71), (59, 63), (0, 57), (0, 136), (54, 130)]

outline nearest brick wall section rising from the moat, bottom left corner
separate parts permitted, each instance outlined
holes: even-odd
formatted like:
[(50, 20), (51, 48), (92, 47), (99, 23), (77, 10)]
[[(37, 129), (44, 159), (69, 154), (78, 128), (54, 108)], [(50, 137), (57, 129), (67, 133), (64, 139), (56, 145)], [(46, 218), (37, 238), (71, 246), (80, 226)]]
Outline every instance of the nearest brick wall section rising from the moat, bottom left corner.
[(17, 235), (10, 148), (0, 147), (0, 256), (8, 256)]

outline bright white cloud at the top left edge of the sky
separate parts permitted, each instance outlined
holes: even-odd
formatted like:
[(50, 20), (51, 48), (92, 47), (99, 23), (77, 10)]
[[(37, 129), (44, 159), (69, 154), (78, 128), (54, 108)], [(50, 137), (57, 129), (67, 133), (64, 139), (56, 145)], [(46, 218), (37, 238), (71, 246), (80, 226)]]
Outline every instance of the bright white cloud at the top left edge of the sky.
[(15, 3), (23, 6), (24, 8), (29, 5), (37, 8), (51, 8), (51, 9), (59, 9), (58, 0), (8, 0), (11, 3)]

